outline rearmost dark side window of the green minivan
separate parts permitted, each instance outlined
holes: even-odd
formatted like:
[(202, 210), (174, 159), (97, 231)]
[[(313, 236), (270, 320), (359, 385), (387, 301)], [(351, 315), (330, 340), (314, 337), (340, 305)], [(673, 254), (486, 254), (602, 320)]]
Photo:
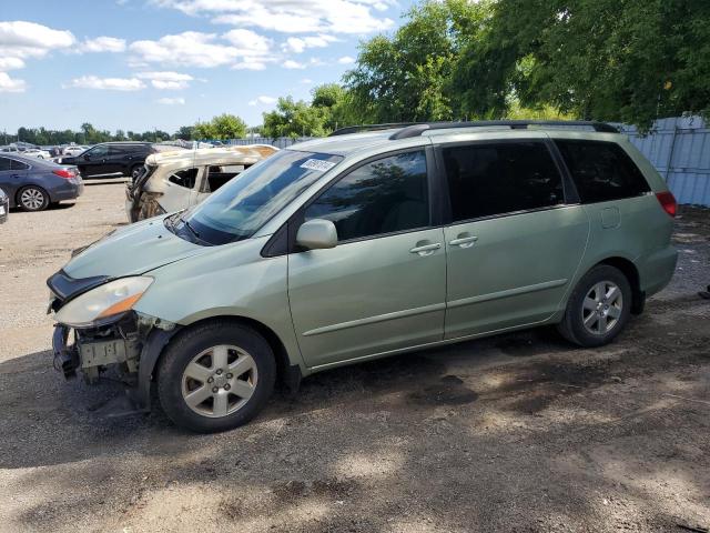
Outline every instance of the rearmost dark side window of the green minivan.
[(631, 158), (615, 142), (556, 140), (584, 203), (638, 197), (650, 189)]

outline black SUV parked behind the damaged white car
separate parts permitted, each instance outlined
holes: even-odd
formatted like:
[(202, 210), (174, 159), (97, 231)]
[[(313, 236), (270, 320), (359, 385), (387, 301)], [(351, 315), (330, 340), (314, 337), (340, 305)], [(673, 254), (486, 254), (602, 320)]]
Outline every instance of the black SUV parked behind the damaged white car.
[(73, 164), (88, 178), (135, 178), (151, 153), (181, 150), (179, 147), (161, 147), (150, 142), (102, 142), (75, 157), (62, 157), (61, 164)]

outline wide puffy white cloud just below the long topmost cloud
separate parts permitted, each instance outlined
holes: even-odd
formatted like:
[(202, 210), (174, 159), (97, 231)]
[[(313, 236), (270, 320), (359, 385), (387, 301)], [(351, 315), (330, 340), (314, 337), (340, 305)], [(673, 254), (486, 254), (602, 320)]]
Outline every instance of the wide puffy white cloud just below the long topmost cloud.
[[(176, 67), (213, 68), (234, 66), (261, 70), (274, 61), (271, 40), (250, 30), (232, 30), (220, 40), (215, 33), (185, 31), (156, 41), (132, 42), (129, 47), (134, 64), (161, 63)], [(227, 43), (225, 43), (227, 42)]]

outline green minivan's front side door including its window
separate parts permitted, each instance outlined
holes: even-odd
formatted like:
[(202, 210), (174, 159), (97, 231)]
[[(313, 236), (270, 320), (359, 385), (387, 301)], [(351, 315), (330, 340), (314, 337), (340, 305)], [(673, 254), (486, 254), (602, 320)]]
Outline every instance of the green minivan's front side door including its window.
[(444, 230), (432, 223), (424, 149), (369, 161), (293, 220), (331, 220), (335, 248), (288, 255), (288, 299), (303, 358), (323, 366), (440, 341)]

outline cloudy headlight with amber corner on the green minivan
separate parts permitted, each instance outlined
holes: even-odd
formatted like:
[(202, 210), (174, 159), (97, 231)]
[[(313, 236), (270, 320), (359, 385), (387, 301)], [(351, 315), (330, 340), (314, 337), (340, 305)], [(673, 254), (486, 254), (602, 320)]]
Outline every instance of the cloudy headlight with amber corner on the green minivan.
[(153, 278), (121, 278), (71, 300), (57, 313), (57, 322), (71, 328), (95, 328), (118, 320), (133, 309)]

